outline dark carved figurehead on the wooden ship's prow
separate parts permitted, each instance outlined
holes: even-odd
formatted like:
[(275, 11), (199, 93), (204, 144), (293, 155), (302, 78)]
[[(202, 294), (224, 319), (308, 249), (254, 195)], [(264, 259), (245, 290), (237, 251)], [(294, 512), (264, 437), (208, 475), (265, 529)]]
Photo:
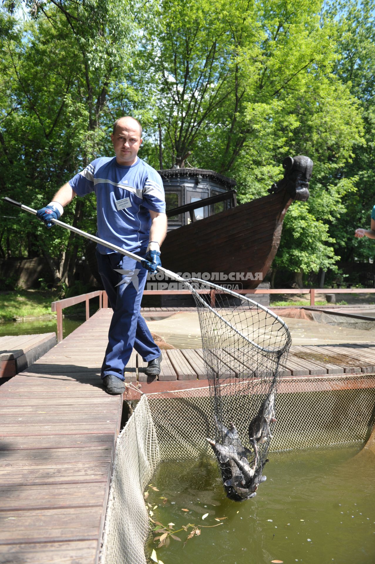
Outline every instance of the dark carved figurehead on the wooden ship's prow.
[(276, 184), (272, 184), (268, 192), (276, 193), (285, 190), (293, 200), (306, 202), (310, 196), (308, 183), (310, 182), (313, 164), (311, 158), (303, 155), (284, 158), (284, 178)]

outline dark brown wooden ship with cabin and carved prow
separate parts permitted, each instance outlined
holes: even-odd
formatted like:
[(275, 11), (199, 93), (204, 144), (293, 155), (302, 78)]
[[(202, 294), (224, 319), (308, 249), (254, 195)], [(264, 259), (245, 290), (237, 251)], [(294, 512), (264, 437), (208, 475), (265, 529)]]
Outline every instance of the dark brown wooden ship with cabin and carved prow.
[(244, 273), (242, 287), (256, 288), (279, 248), (290, 204), (309, 197), (310, 158), (286, 157), (283, 168), (284, 178), (272, 184), (267, 196), (241, 205), (236, 202), (235, 181), (212, 170), (158, 171), (169, 223), (162, 265), (173, 272), (222, 273), (222, 280), (216, 278), (219, 283), (233, 282), (226, 278), (233, 272)]

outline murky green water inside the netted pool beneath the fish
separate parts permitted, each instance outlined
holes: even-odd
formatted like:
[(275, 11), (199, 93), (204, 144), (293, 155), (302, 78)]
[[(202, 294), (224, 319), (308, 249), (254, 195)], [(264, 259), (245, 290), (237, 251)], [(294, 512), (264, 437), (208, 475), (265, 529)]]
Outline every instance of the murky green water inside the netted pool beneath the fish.
[(224, 497), (215, 463), (165, 462), (152, 482), (160, 491), (149, 488), (152, 518), (174, 530), (192, 523), (201, 533), (184, 545), (188, 532), (176, 532), (182, 542), (159, 549), (151, 542), (149, 553), (155, 548), (164, 564), (373, 564), (375, 468), (352, 459), (359, 450), (270, 453), (267, 481), (242, 503)]

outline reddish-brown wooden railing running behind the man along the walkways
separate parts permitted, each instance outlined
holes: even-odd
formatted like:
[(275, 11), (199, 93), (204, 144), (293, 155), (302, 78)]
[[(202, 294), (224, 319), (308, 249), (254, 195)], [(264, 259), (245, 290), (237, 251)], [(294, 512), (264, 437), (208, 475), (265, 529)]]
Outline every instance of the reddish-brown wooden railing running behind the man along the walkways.
[[(237, 294), (310, 294), (310, 306), (315, 306), (315, 293), (319, 294), (374, 294), (375, 288), (303, 288), (303, 289), (267, 289), (256, 288), (255, 290), (235, 290)], [(199, 290), (200, 294), (210, 294), (210, 305), (215, 307), (215, 295), (220, 290)], [(144, 290), (144, 296), (160, 296), (162, 294), (173, 296), (175, 294), (191, 294), (190, 290)], [(89, 294), (81, 294), (72, 298), (60, 299), (51, 303), (51, 311), (57, 312), (58, 343), (63, 340), (63, 309), (75, 306), (77, 303), (86, 302), (86, 320), (90, 317), (89, 300), (99, 296), (99, 309), (108, 307), (108, 296), (105, 290), (97, 290)], [(334, 305), (334, 304), (332, 304)]]

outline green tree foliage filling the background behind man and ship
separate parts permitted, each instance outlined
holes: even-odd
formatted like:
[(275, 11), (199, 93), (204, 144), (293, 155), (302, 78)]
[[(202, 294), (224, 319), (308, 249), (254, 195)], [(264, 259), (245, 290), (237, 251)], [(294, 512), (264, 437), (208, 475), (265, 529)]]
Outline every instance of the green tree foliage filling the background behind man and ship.
[[(233, 177), (267, 193), (287, 155), (314, 161), (311, 197), (286, 214), (274, 268), (368, 259), (354, 240), (374, 200), (374, 2), (28, 0), (0, 10), (2, 195), (34, 208), (87, 162), (112, 155), (113, 121), (145, 129), (156, 168)], [(72, 284), (85, 243), (1, 204), (0, 253), (43, 254)], [(95, 202), (67, 222), (95, 231)]]

